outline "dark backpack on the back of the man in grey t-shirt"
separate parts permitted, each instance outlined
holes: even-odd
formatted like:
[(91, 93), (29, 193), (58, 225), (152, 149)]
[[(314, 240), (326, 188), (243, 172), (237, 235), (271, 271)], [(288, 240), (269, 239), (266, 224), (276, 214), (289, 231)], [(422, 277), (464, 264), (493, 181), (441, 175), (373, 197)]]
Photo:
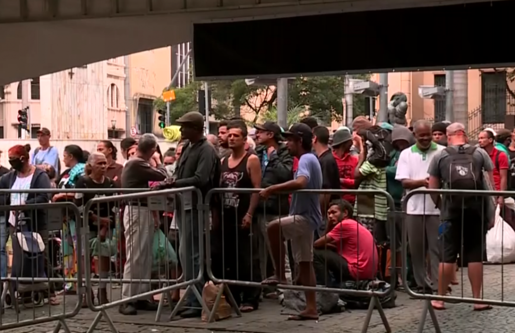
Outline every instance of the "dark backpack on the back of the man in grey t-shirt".
[[(473, 155), (477, 147), (459, 146), (456, 150), (453, 147), (445, 148), (449, 154), (448, 179), (443, 179), (449, 189), (456, 190), (480, 190), (483, 189), (483, 171), (474, 167)], [(450, 202), (453, 205), (461, 206), (464, 201), (469, 201), (477, 196), (474, 195), (451, 195)]]

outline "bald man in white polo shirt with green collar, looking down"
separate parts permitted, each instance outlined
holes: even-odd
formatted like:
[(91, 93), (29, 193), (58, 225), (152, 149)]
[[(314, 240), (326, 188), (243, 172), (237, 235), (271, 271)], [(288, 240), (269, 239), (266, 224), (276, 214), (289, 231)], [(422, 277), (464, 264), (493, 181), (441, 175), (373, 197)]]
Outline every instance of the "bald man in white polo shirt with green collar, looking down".
[[(433, 157), (445, 147), (433, 142), (431, 124), (419, 120), (413, 126), (417, 143), (399, 156), (395, 179), (406, 191), (428, 186), (427, 169)], [(408, 200), (406, 226), (413, 273), (418, 288), (431, 293), (438, 288), (438, 225), (440, 211), (429, 195), (414, 195)], [(431, 279), (425, 269), (426, 253), (430, 254)]]

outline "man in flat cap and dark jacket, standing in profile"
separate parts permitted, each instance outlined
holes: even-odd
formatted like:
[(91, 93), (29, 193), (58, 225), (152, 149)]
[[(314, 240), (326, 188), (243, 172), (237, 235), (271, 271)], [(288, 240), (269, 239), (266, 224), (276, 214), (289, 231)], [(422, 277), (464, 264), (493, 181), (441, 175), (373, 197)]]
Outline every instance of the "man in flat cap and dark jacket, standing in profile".
[[(182, 139), (185, 140), (182, 154), (179, 157), (175, 179), (171, 180), (171, 187), (194, 186), (200, 189), (202, 196), (212, 188), (218, 187), (220, 182), (220, 159), (215, 148), (204, 136), (204, 116), (199, 112), (188, 112), (177, 120), (181, 125)], [(179, 229), (180, 246), (179, 256), (185, 281), (194, 279), (199, 272), (199, 260), (203, 255), (199, 250), (199, 220), (197, 196), (191, 195), (192, 209), (188, 209), (182, 216), (182, 209), (177, 209), (176, 221)], [(177, 207), (181, 207), (181, 200), (188, 196), (184, 193), (176, 196)], [(203, 283), (196, 285), (202, 294)], [(193, 292), (186, 296), (186, 306), (191, 307), (182, 311), (183, 318), (200, 317), (201, 306)]]

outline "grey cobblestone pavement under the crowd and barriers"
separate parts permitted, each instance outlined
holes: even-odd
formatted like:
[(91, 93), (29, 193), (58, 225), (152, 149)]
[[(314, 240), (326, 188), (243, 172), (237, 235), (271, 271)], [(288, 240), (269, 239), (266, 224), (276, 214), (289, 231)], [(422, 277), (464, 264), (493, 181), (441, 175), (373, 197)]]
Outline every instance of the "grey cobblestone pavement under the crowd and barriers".
[[(466, 270), (463, 272), (466, 274)], [(504, 276), (504, 279), (502, 278)], [(458, 278), (461, 280), (461, 271)], [(454, 286), (453, 295), (471, 296), (467, 276), (462, 276), (464, 285)], [(119, 294), (119, 289), (114, 289), (114, 293)], [(515, 265), (485, 266), (485, 299), (501, 300), (504, 294), (505, 301), (515, 302)], [(66, 297), (66, 309), (70, 311), (76, 297)], [(155, 322), (156, 314), (153, 312), (140, 313), (138, 316), (122, 316), (117, 309), (109, 309), (108, 313), (120, 333), (143, 333), (143, 332), (166, 332), (166, 333), (212, 333), (213, 331), (226, 332), (255, 332), (255, 333), (277, 333), (277, 332), (296, 332), (307, 333), (313, 331), (327, 333), (347, 333), (361, 331), (365, 320), (366, 311), (349, 310), (342, 313), (322, 316), (317, 322), (292, 322), (286, 321), (286, 316), (281, 313), (281, 307), (277, 301), (265, 300), (260, 309), (253, 313), (244, 313), (243, 317), (222, 320), (217, 323), (205, 324), (199, 319), (187, 319), (168, 321), (169, 310), (164, 311), (160, 322)], [(61, 299), (63, 303), (63, 299)], [(416, 332), (420, 315), (422, 313), (423, 302), (411, 300), (402, 292), (398, 293), (397, 307), (385, 309), (386, 317), (393, 332), (411, 333)], [(52, 307), (52, 314), (57, 314), (63, 306)], [(496, 306), (492, 310), (483, 312), (472, 311), (471, 304), (447, 304), (447, 310), (438, 311), (437, 317), (442, 332), (447, 333), (504, 333), (515, 330), (515, 309), (509, 307)], [(2, 325), (16, 320), (27, 320), (34, 317), (48, 316), (48, 307), (41, 307), (35, 310), (23, 310), (18, 319), (13, 310), (6, 309), (2, 316)], [(66, 323), (72, 332), (85, 332), (96, 313), (88, 309), (81, 309), (79, 314), (68, 319)], [(43, 333), (54, 329), (55, 323), (45, 323), (23, 328), (3, 330), (8, 333)], [(0, 328), (1, 329), (1, 328)], [(108, 332), (109, 327), (106, 322), (101, 322), (97, 326), (97, 331)], [(370, 333), (385, 332), (381, 319), (377, 311), (374, 311), (370, 327)], [(431, 319), (427, 316), (424, 332), (434, 332)]]

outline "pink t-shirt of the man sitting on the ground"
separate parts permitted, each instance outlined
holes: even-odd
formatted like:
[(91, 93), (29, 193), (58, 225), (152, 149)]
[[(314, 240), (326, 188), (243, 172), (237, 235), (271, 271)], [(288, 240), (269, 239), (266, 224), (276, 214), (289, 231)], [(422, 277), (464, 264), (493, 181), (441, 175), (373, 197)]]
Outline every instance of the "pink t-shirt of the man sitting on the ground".
[(328, 236), (335, 240), (338, 253), (349, 263), (352, 277), (359, 280), (375, 278), (379, 256), (374, 237), (366, 227), (347, 219), (336, 224)]

